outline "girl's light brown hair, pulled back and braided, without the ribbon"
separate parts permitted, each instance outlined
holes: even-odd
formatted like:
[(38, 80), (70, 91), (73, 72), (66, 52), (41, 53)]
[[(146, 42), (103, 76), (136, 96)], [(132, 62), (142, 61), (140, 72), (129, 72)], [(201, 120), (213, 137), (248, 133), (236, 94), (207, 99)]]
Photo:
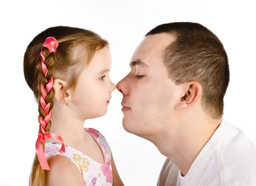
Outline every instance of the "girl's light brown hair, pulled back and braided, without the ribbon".
[[(42, 46), (48, 37), (54, 37), (58, 41), (58, 48), (56, 52), (49, 53), (49, 49)], [(33, 91), (36, 101), (38, 102), (38, 122), (40, 118), (44, 118), (46, 113), (41, 107), (40, 99), (41, 83), (46, 88), (50, 77), (53, 79), (60, 78), (67, 82), (66, 90), (74, 90), (76, 87), (78, 76), (81, 71), (86, 67), (96, 50), (108, 46), (108, 41), (102, 39), (96, 33), (69, 26), (56, 26), (50, 27), (40, 34), (38, 34), (29, 44), (26, 49), (23, 61), (24, 76), (30, 89)], [(40, 52), (45, 58), (45, 65), (48, 69), (47, 76), (45, 77), (41, 65)], [(53, 100), (55, 91), (52, 88), (45, 98), (45, 103), (50, 103), (49, 110), (53, 107)], [(45, 131), (49, 131), (51, 121), (45, 127)], [(41, 125), (39, 125), (41, 131)], [(41, 143), (44, 150), (44, 142)], [(34, 163), (32, 166), (31, 186), (45, 186), (45, 170), (41, 168), (38, 161), (37, 154), (35, 154)]]

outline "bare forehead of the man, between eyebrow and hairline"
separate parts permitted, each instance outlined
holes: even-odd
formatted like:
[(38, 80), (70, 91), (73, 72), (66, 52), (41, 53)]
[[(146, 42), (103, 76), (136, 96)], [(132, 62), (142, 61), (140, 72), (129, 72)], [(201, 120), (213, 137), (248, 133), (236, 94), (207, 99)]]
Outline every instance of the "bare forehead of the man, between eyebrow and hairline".
[(131, 61), (137, 59), (143, 60), (145, 63), (154, 59), (162, 58), (164, 49), (169, 46), (175, 38), (166, 33), (148, 35), (139, 44), (131, 58)]

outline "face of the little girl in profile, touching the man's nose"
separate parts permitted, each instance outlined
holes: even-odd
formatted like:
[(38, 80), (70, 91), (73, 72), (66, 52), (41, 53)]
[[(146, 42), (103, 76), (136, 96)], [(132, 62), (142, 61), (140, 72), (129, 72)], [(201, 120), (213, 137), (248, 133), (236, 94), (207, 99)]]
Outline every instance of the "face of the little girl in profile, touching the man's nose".
[(97, 50), (78, 78), (71, 98), (73, 116), (83, 121), (104, 116), (116, 86), (109, 78), (111, 53), (107, 46)]

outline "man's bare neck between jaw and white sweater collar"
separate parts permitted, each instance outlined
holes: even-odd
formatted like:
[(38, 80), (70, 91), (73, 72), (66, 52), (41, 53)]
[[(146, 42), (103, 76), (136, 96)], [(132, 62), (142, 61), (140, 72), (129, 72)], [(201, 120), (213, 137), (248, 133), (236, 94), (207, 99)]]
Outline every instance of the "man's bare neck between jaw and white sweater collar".
[(166, 130), (150, 141), (185, 176), (220, 123), (221, 119), (214, 122), (209, 122), (207, 119), (183, 121), (175, 124), (177, 126), (175, 129), (169, 128), (168, 131)]

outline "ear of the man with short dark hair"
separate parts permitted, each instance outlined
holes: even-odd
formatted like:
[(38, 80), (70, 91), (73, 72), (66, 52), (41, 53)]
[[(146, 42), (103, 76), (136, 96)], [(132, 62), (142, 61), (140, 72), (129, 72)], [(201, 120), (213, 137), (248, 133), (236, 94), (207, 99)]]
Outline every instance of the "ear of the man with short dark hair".
[(203, 92), (202, 86), (197, 81), (188, 81), (181, 86), (183, 88), (183, 94), (176, 108), (189, 108), (201, 97)]

